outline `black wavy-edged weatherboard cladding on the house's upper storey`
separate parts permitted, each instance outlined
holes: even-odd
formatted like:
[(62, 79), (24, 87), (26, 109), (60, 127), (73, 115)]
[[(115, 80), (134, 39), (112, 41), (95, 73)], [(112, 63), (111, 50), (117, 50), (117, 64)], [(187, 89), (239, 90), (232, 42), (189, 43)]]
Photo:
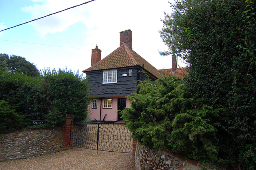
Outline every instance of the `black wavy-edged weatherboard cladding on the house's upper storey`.
[(103, 84), (103, 71), (86, 73), (88, 83), (91, 85), (88, 89), (90, 96), (93, 97), (115, 97), (131, 95), (137, 85), (137, 68), (132, 68), (132, 76), (122, 75), (129, 74), (129, 68), (118, 69), (117, 83)]

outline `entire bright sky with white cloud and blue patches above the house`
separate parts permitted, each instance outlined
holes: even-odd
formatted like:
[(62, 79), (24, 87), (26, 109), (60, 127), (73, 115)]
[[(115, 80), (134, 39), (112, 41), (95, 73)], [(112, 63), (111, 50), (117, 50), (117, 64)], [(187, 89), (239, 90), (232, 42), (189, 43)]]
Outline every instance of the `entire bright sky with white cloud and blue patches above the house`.
[[(0, 0), (0, 30), (87, 1)], [(136, 53), (156, 69), (171, 68), (171, 55), (163, 57), (158, 52), (167, 49), (158, 32), (163, 27), (160, 19), (164, 18), (164, 11), (171, 12), (168, 0), (95, 0), (0, 32), (0, 53), (25, 57), (38, 69), (67, 67), (82, 73), (90, 67), (91, 49), (96, 44), (102, 50), (101, 56), (104, 58), (119, 47), (119, 33), (130, 29), (132, 49)], [(178, 65), (186, 66), (180, 59)]]

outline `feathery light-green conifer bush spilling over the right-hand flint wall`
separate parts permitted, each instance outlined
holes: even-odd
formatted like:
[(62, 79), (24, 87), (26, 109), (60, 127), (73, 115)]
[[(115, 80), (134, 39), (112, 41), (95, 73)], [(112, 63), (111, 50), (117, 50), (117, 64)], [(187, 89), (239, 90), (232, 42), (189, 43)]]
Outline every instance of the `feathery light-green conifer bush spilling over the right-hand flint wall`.
[(174, 77), (142, 81), (138, 88), (139, 93), (128, 96), (130, 108), (122, 111), (133, 138), (148, 148), (205, 162), (216, 160), (216, 126), (222, 109), (195, 108), (191, 89)]

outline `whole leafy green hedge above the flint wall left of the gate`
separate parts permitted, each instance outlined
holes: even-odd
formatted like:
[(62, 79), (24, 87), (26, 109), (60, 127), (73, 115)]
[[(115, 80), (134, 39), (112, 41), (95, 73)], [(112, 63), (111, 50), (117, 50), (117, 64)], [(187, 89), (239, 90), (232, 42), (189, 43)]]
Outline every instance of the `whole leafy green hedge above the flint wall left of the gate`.
[(82, 75), (67, 69), (45, 69), (38, 77), (0, 69), (1, 107), (9, 108), (8, 112), (2, 110), (0, 117), (16, 117), (3, 119), (8, 126), (3, 126), (0, 132), (28, 128), (30, 120), (40, 119), (46, 119), (46, 124), (36, 127), (62, 126), (66, 113), (74, 115), (76, 121), (86, 119), (87, 87), (87, 80)]

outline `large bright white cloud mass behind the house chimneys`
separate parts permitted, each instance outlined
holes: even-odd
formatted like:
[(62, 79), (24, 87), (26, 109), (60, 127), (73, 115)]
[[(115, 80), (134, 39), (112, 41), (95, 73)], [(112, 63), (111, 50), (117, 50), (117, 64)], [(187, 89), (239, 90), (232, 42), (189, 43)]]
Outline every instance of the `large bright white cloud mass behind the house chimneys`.
[[(23, 12), (31, 14), (29, 20), (82, 4), (86, 0), (44, 0), (43, 2), (34, 0), (34, 2), (36, 4), (22, 8)], [(96, 44), (102, 50), (102, 58), (106, 57), (119, 47), (119, 32), (130, 29), (132, 30), (134, 51), (158, 69), (170, 68), (171, 57), (163, 57), (158, 53), (158, 49), (166, 50), (158, 32), (163, 26), (160, 19), (164, 18), (164, 11), (170, 13), (170, 10), (168, 0), (161, 0), (157, 3), (154, 0), (96, 0), (31, 22), (30, 24), (42, 38), (47, 36), (47, 39), (50, 40), (48, 34), (62, 32), (64, 34), (51, 35), (56, 40), (62, 41), (56, 45), (83, 48), (62, 47), (63, 50), (58, 49), (57, 52), (42, 50), (44, 57), (42, 57), (42, 61), (37, 62), (38, 67), (43, 68), (45, 67), (43, 65), (46, 65), (64, 68), (65, 65), (68, 65), (73, 70), (86, 69), (90, 67), (91, 49), (95, 48)], [(76, 26), (70, 27), (74, 24)], [(64, 32), (64, 30), (67, 31)], [(52, 42), (48, 44), (56, 43), (54, 39), (51, 40)], [(54, 57), (52, 57), (53, 54)], [(60, 58), (56, 57), (56, 54)], [(44, 60), (51, 62), (44, 63)]]

